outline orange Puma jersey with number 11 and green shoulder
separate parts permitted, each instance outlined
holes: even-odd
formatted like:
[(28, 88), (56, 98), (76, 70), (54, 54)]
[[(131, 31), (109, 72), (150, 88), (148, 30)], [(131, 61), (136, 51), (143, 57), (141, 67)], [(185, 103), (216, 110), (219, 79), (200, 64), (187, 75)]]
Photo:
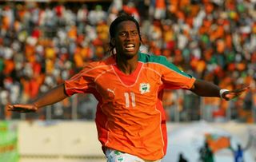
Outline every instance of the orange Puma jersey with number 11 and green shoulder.
[(102, 148), (158, 160), (167, 145), (163, 89), (190, 89), (194, 81), (166, 57), (138, 53), (137, 69), (130, 75), (111, 56), (86, 65), (65, 81), (65, 88), (69, 96), (93, 93), (97, 98), (95, 121)]

